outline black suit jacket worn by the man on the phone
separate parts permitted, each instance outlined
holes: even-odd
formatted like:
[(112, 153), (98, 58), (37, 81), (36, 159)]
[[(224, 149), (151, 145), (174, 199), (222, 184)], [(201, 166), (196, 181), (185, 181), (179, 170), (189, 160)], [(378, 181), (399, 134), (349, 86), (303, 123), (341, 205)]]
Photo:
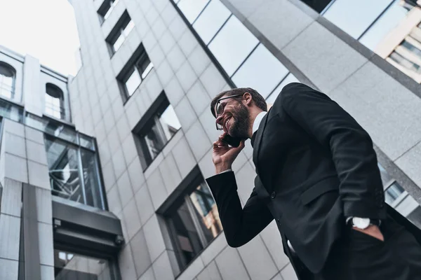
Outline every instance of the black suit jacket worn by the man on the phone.
[(243, 208), (233, 172), (206, 179), (229, 246), (246, 244), (275, 219), (290, 260), (287, 239), (316, 273), (345, 229), (345, 217), (385, 220), (373, 142), (326, 94), (286, 85), (253, 140), (258, 176)]

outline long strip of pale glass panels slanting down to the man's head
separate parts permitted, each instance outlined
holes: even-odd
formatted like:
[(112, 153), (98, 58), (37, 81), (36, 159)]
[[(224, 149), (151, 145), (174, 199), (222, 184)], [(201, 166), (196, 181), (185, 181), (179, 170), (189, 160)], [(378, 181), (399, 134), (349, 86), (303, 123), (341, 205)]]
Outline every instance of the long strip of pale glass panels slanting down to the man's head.
[(220, 0), (173, 2), (235, 87), (273, 102), (286, 82), (298, 81)]

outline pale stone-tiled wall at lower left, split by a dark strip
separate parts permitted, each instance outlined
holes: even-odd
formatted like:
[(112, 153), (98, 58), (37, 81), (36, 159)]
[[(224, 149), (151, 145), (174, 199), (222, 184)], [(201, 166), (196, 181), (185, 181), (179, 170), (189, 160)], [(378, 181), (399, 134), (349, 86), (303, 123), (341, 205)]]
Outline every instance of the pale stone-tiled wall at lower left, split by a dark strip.
[[(41, 279), (54, 279), (51, 188), (42, 132), (4, 119), (0, 150), (0, 279), (18, 279), (22, 188), (35, 188)], [(25, 185), (23, 185), (25, 183)], [(34, 235), (34, 232), (31, 233)]]

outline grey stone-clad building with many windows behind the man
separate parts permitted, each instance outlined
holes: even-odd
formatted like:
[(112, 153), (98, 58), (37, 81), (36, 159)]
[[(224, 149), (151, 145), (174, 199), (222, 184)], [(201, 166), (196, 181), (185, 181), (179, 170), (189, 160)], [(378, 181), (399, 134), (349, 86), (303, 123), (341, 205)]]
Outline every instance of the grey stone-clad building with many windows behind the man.
[[(416, 1), (70, 2), (76, 77), (0, 49), (0, 279), (295, 279), (274, 223), (227, 246), (204, 181), (210, 100), (230, 87), (328, 94), (373, 138), (387, 203), (421, 226), (421, 85), (399, 70), (421, 50), (375, 52), (403, 21), (418, 34)], [(233, 167), (243, 203), (251, 155)]]

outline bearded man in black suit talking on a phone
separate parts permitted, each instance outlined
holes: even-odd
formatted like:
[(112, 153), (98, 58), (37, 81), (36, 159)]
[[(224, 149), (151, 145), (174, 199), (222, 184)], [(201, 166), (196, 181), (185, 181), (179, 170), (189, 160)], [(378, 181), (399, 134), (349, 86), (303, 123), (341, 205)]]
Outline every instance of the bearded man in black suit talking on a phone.
[[(251, 88), (218, 94), (210, 109), (223, 134), (206, 181), (229, 246), (276, 220), (298, 278), (421, 279), (421, 230), (385, 204), (367, 132), (325, 94), (290, 83), (267, 111)], [(244, 207), (232, 162), (251, 139), (257, 176)], [(258, 256), (256, 256), (258, 258)]]

